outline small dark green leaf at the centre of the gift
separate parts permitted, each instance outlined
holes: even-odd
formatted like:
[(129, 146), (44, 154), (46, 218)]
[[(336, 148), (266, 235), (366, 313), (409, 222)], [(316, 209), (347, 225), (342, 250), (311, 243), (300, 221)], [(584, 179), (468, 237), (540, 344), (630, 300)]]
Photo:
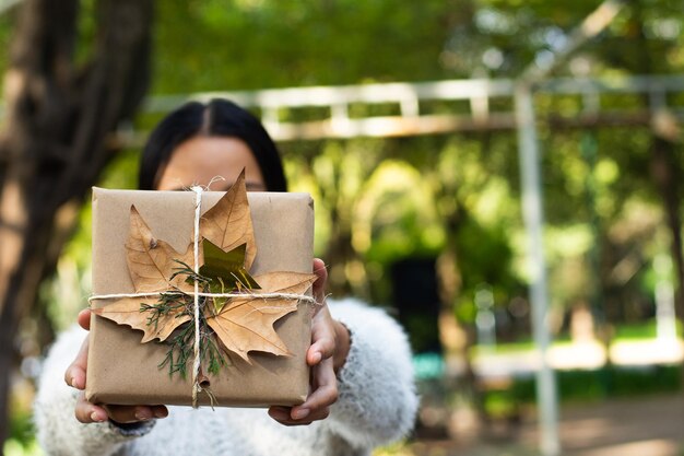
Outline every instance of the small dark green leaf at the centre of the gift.
[[(204, 265), (200, 276), (211, 279), (209, 289), (212, 293), (231, 293), (236, 290), (257, 290), (259, 283), (245, 269), (247, 245), (240, 244), (229, 252), (208, 239), (202, 239)], [(214, 307), (221, 312), (228, 297), (214, 297)]]

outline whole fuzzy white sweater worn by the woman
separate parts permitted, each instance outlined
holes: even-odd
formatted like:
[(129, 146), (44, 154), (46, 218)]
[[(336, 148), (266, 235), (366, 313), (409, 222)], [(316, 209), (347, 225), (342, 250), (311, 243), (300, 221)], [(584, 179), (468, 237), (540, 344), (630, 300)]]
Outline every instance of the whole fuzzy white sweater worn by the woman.
[(352, 346), (339, 373), (330, 416), (285, 426), (264, 409), (169, 407), (169, 416), (135, 431), (74, 418), (78, 391), (64, 384), (84, 331), (64, 332), (45, 362), (35, 402), (38, 441), (48, 455), (361, 456), (404, 436), (417, 397), (410, 350), (399, 325), (382, 311), (353, 300), (330, 303), (350, 328)]

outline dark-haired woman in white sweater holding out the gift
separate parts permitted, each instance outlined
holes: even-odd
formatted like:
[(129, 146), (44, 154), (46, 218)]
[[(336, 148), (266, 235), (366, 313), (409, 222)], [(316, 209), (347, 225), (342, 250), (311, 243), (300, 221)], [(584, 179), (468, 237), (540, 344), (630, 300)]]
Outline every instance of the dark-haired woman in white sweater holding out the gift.
[[(286, 190), (278, 150), (257, 118), (223, 100), (189, 103), (152, 132), (140, 188), (200, 184), (225, 190), (243, 168), (248, 190)], [(314, 295), (323, 305), (312, 320), (306, 355), (311, 390), (303, 405), (271, 407), (267, 414), (90, 404), (83, 394), (87, 336), (74, 328), (50, 350), (38, 385), (35, 421), (47, 454), (353, 456), (404, 436), (417, 398), (402, 329), (384, 312), (353, 300), (329, 307), (326, 267), (315, 259), (312, 269), (318, 274)], [(79, 324), (89, 329), (89, 311), (79, 315)]]

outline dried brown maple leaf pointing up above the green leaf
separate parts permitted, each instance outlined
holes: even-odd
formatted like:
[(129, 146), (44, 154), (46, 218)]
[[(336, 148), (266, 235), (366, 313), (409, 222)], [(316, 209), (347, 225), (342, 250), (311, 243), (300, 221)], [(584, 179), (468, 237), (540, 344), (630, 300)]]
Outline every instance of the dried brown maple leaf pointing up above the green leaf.
[(251, 268), (257, 256), (257, 242), (247, 200), (245, 169), (219, 202), (202, 215), (200, 233), (224, 252), (247, 244), (245, 269)]

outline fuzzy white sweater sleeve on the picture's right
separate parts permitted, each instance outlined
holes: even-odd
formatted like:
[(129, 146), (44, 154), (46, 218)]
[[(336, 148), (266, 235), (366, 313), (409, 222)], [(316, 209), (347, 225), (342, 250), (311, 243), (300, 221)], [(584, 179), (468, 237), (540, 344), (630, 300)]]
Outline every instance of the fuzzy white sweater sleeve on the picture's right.
[(352, 337), (338, 375), (339, 399), (330, 410), (332, 431), (369, 448), (405, 436), (418, 399), (403, 329), (384, 311), (354, 300), (331, 302), (330, 312)]

